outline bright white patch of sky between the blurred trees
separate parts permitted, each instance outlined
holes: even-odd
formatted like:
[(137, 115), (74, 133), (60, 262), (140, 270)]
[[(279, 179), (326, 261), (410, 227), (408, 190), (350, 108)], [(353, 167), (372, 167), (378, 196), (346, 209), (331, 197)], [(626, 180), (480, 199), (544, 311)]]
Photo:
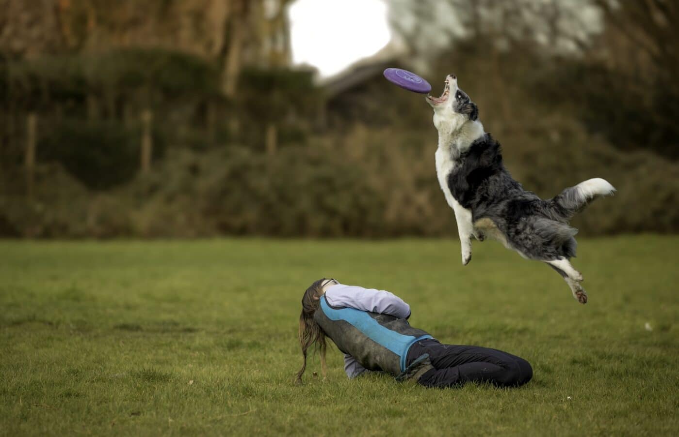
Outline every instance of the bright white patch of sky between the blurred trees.
[(391, 33), (382, 0), (297, 0), (289, 8), (293, 62), (334, 75), (380, 51)]

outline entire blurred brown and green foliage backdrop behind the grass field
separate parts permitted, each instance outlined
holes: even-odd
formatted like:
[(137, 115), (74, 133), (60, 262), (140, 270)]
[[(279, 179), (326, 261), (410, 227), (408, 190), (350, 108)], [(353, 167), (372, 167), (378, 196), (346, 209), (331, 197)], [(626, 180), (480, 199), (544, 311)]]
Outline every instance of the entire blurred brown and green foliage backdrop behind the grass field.
[(386, 66), (458, 75), (540, 196), (612, 182), (582, 232), (679, 230), (676, 2), (390, 0), (393, 43), (320, 80), (289, 3), (0, 0), (0, 236), (454, 236)]

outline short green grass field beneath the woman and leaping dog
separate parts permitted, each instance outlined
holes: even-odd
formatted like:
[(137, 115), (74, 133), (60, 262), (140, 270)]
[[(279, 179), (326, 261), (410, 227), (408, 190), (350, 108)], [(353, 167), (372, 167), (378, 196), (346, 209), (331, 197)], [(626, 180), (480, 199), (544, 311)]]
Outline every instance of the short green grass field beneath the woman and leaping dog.
[[(0, 242), (0, 434), (679, 432), (679, 237), (580, 238), (589, 304), (497, 243)], [(529, 360), (524, 388), (349, 381), (296, 339), (317, 278), (378, 287), (441, 341)], [(646, 325), (648, 324), (648, 325)], [(648, 328), (648, 329), (647, 329)]]

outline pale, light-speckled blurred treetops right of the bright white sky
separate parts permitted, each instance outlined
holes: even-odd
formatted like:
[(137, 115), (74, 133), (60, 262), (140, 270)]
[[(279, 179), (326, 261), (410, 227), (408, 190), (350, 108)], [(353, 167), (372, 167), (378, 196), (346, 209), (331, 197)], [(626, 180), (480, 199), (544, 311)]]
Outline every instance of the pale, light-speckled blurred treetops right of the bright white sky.
[(572, 54), (600, 30), (591, 0), (388, 0), (389, 20), (411, 56), (430, 62), (462, 39), (490, 39), (507, 51), (531, 43)]

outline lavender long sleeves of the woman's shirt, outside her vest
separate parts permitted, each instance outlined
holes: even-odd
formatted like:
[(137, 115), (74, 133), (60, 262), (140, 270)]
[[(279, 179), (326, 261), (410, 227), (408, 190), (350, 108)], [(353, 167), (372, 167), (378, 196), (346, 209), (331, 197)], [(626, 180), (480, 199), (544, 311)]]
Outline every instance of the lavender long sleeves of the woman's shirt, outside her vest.
[[(332, 306), (389, 314), (398, 318), (410, 316), (410, 306), (400, 297), (384, 290), (337, 284), (326, 289), (325, 298)], [(344, 371), (352, 379), (361, 375), (366, 369), (353, 356), (344, 354)]]

